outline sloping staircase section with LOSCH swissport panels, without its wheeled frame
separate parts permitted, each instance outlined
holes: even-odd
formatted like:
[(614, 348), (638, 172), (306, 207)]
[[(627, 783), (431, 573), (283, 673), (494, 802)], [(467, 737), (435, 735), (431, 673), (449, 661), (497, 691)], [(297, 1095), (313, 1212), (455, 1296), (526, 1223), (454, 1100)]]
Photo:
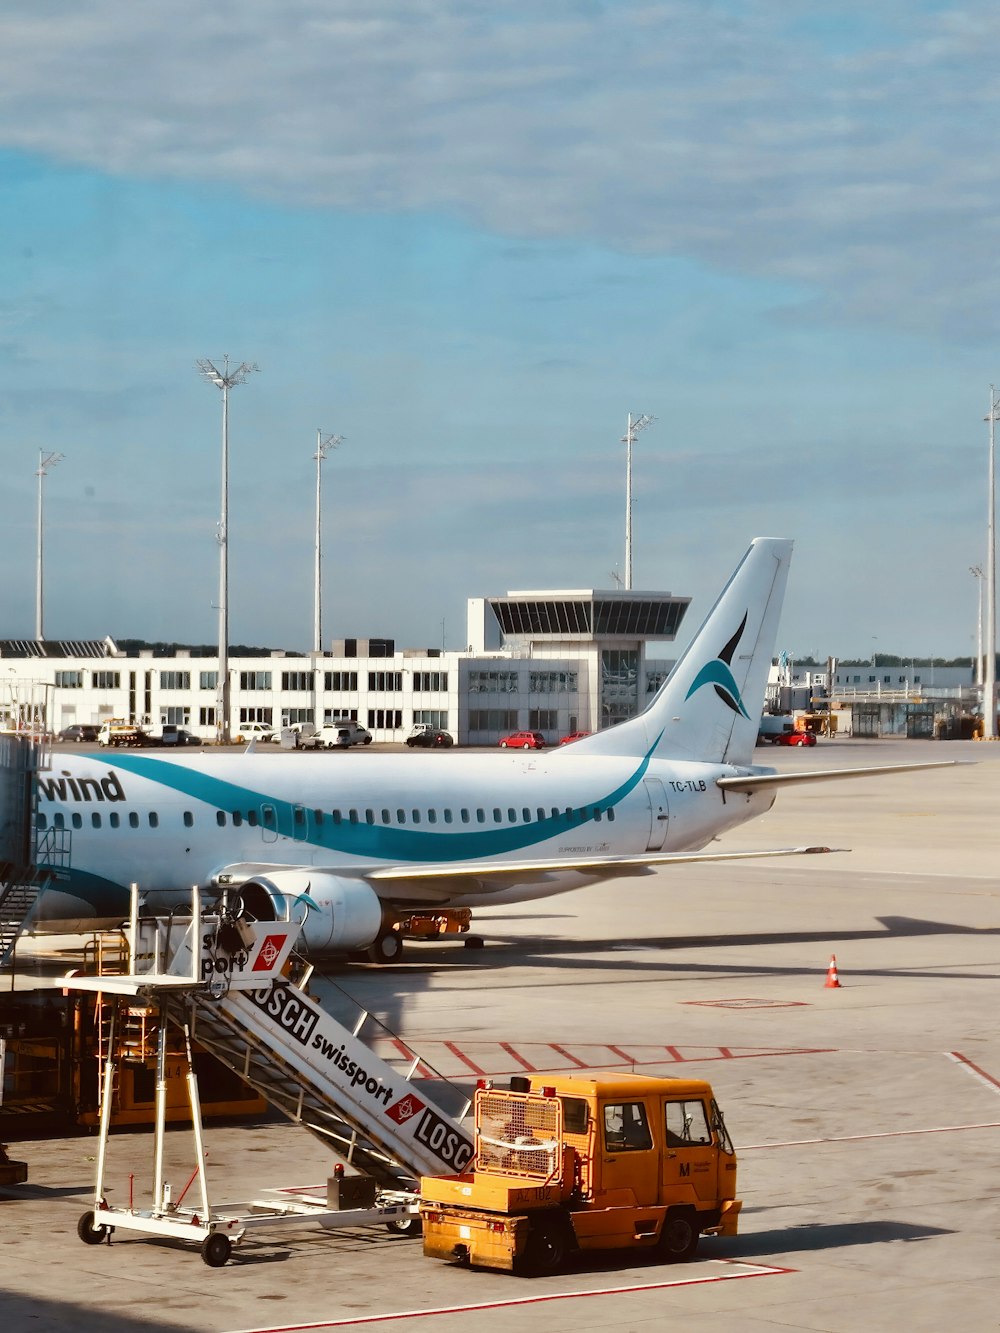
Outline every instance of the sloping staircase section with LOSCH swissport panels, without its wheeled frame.
[[(460, 1089), (371, 1014), (341, 1021), (309, 993), (308, 976), (285, 976), (295, 922), (133, 917), (129, 934), (129, 974), (68, 984), (157, 1005), (379, 1189), (412, 1192), (420, 1176), (459, 1172), (472, 1157)], [(336, 1008), (345, 1002), (341, 992)]]

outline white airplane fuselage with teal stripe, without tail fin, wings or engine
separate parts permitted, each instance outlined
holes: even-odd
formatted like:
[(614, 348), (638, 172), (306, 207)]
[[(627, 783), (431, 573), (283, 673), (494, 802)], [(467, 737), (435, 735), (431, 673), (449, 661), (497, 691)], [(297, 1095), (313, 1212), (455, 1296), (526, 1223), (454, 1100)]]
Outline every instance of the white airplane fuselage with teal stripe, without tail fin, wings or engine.
[[(769, 793), (725, 796), (724, 764), (563, 752), (525, 754), (60, 754), (39, 778), (39, 840), (55, 870), (40, 918), (121, 917), (128, 886), (157, 906), (232, 865), (380, 866), (552, 861), (516, 885), (433, 880), (395, 901), (523, 901), (592, 874), (560, 861), (689, 852), (761, 813)], [(745, 772), (741, 769), (739, 772)], [(48, 850), (45, 850), (48, 849)], [(79, 904), (72, 909), (71, 900)]]

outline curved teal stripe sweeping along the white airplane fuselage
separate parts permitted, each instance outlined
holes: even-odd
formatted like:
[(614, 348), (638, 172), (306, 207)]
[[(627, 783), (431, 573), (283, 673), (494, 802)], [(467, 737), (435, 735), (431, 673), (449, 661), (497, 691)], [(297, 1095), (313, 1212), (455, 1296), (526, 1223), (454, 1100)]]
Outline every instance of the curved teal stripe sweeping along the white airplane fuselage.
[[(659, 737), (657, 737), (659, 740)], [(252, 790), (237, 782), (213, 777), (211, 773), (164, 762), (163, 760), (147, 758), (141, 754), (116, 756), (115, 766), (123, 772), (133, 773), (149, 782), (168, 786), (192, 800), (203, 801), (219, 810), (260, 810), (261, 806), (272, 806), (275, 810), (276, 832), (289, 838), (296, 838), (303, 845), (323, 848), (328, 852), (339, 852), (344, 856), (371, 857), (377, 861), (389, 862), (421, 862), (421, 861), (471, 861), (484, 857), (499, 857), (505, 853), (524, 850), (537, 846), (548, 838), (557, 837), (568, 829), (580, 828), (593, 822), (593, 812), (601, 814), (624, 800), (629, 792), (641, 782), (652, 758), (656, 742), (648, 753), (639, 761), (635, 772), (617, 788), (603, 796), (595, 797), (581, 805), (571, 806), (571, 813), (548, 816), (543, 820), (513, 824), (505, 828), (469, 829), (453, 833), (428, 833), (412, 828), (397, 828), (384, 824), (351, 824), (343, 821), (333, 824), (329, 812), (324, 812), (323, 824), (315, 818), (309, 820), (308, 836), (303, 837), (301, 825), (295, 822), (296, 810), (305, 809), (304, 802), (285, 801), (264, 792)], [(265, 762), (283, 762), (277, 756)], [(473, 798), (485, 800), (481, 793), (473, 797), (465, 793), (463, 800), (472, 802)]]

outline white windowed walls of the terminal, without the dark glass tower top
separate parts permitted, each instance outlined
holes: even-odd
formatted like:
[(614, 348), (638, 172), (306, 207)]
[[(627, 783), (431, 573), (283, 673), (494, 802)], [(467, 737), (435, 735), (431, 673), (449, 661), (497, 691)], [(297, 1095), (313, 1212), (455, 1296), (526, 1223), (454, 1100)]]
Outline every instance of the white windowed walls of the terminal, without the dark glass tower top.
[[(616, 637), (615, 649), (623, 643)], [(408, 649), (383, 656), (385, 647), (381, 640), (352, 640), (335, 641), (333, 653), (231, 655), (233, 737), (249, 722), (321, 725), (353, 717), (376, 741), (405, 740), (415, 722), (429, 722), (460, 744), (495, 744), (505, 732), (523, 729), (539, 730), (552, 742), (613, 720), (607, 716), (609, 682), (600, 640), (571, 636), (563, 641), (549, 635), (544, 641), (508, 639), (501, 647), (485, 599), (469, 600), (463, 651)], [(28, 697), (29, 686), (37, 690), (44, 684), (49, 686), (45, 726), (51, 732), (123, 717), (152, 726), (172, 722), (203, 740), (215, 738), (216, 657), (188, 649), (169, 656), (153, 649), (129, 655), (111, 640), (65, 645), (64, 656), (52, 656), (53, 648), (52, 643), (23, 644), (11, 656), (15, 645), (0, 647), (3, 725), (16, 724), (19, 698)], [(647, 660), (641, 639), (628, 648), (635, 657), (623, 688), (641, 709), (671, 664)]]

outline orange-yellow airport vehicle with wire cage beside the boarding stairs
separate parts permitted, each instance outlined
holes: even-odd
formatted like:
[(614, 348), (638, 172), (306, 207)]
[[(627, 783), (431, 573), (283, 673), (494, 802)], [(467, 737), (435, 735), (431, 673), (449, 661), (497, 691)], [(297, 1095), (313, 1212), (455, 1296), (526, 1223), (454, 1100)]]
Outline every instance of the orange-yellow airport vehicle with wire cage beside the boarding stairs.
[(476, 1153), (424, 1177), (424, 1253), (535, 1276), (589, 1249), (692, 1258), (701, 1234), (736, 1236), (736, 1153), (700, 1078), (512, 1078), (483, 1084)]

